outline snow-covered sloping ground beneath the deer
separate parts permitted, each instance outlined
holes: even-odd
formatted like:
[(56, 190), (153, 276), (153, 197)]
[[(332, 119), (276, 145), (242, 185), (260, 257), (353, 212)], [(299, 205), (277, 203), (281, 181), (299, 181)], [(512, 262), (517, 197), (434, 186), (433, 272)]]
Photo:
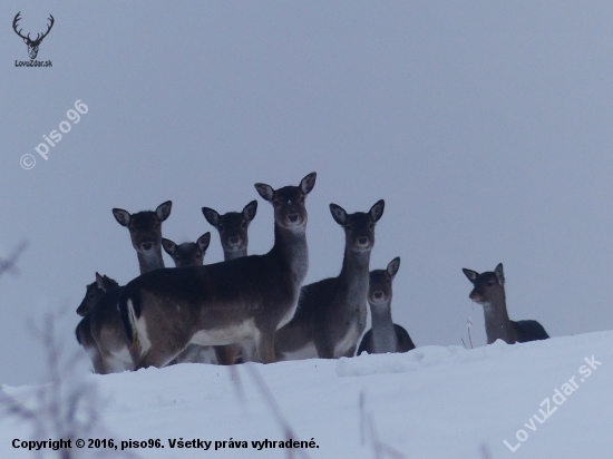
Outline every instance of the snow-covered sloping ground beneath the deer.
[[(301, 450), (313, 459), (376, 458), (372, 427), (382, 458), (596, 459), (613, 451), (613, 331), (474, 350), (425, 346), (406, 354), (250, 365), (231, 371), (179, 364), (85, 378), (104, 400), (107, 439), (119, 447), (121, 440), (160, 440), (164, 449), (130, 449), (142, 458), (285, 458), (283, 448), (253, 447), (286, 439), (256, 375), (293, 439), (317, 443)], [(32, 406), (40, 388), (3, 389)], [(14, 439), (48, 440), (2, 414), (0, 457), (36, 457), (13, 448)], [(210, 449), (178, 448), (179, 440), (194, 439), (210, 441), (204, 443)], [(225, 448), (215, 450), (216, 441), (226, 441)], [(230, 441), (246, 448), (230, 448)]]

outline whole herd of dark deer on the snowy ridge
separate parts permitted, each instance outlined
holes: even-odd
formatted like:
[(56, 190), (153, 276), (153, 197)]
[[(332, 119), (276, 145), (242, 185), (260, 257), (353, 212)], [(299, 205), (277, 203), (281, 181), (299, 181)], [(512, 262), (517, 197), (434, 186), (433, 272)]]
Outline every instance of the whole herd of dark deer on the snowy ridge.
[[(179, 245), (162, 237), (169, 201), (155, 212), (130, 214), (114, 208), (115, 219), (129, 231), (140, 275), (120, 286), (96, 273), (96, 281), (87, 286), (77, 309), (82, 319), (76, 335), (94, 371), (104, 374), (182, 362), (228, 365), (338, 359), (356, 355), (356, 349), (358, 354), (415, 349), (407, 331), (391, 319), (392, 281), (400, 257), (386, 270), (370, 271), (383, 199), (368, 212), (352, 214), (330, 204), (332, 218), (344, 232), (342, 268), (337, 277), (303, 285), (309, 268), (305, 201), (315, 177), (311, 173), (298, 186), (278, 189), (255, 184), (274, 209), (274, 244), (264, 255), (247, 255), (247, 230), (257, 201), (224, 215), (203, 207), (224, 252), (223, 262), (207, 265), (203, 262), (211, 233)], [(162, 250), (176, 267), (164, 266)], [(548, 338), (536, 321), (509, 320), (502, 264), (494, 272), (465, 268), (464, 273), (474, 284), (469, 297), (484, 306), (488, 343)], [(367, 302), (372, 328), (360, 342)]]

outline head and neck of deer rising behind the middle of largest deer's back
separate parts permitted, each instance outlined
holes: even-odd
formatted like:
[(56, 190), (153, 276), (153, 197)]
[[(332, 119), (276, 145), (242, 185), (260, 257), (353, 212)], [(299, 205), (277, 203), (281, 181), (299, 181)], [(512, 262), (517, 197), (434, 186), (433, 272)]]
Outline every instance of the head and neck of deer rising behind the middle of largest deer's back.
[(206, 221), (220, 232), (224, 260), (234, 260), (247, 254), (249, 224), (257, 212), (257, 201), (252, 201), (243, 212), (227, 212), (220, 215), (217, 211), (203, 207), (202, 213)]

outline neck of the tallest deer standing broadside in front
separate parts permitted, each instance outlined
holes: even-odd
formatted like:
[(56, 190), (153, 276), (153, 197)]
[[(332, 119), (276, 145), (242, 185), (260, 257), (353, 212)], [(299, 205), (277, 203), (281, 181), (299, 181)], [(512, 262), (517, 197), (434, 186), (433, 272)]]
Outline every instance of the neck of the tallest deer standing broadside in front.
[(269, 254), (280, 262), (283, 268), (293, 274), (298, 287), (302, 285), (309, 270), (309, 247), (306, 246), (306, 225), (298, 228), (284, 228), (274, 224), (274, 245)]

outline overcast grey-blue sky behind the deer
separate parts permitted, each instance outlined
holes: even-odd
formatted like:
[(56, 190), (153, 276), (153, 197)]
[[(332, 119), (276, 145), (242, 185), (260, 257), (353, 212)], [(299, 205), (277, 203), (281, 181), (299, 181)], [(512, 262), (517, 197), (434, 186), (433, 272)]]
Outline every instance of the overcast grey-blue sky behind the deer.
[[(16, 67), (18, 11), (31, 36), (53, 14), (37, 58), (52, 67)], [(259, 199), (250, 253), (265, 253), (272, 206), (253, 184), (312, 170), (306, 282), (340, 271), (328, 205), (385, 198), (371, 268), (401, 257), (392, 315), (418, 346), (461, 345), (467, 316), (485, 344), (461, 268), (499, 262), (512, 319), (613, 326), (610, 1), (4, 1), (0, 68), (0, 252), (30, 242), (0, 279), (0, 383), (43, 378), (28, 321), (66, 310), (76, 350), (95, 272), (138, 274), (113, 207), (172, 199), (163, 233), (181, 243), (213, 230), (202, 206)], [(78, 99), (89, 111), (42, 159)], [(213, 233), (205, 263), (222, 258)]]

